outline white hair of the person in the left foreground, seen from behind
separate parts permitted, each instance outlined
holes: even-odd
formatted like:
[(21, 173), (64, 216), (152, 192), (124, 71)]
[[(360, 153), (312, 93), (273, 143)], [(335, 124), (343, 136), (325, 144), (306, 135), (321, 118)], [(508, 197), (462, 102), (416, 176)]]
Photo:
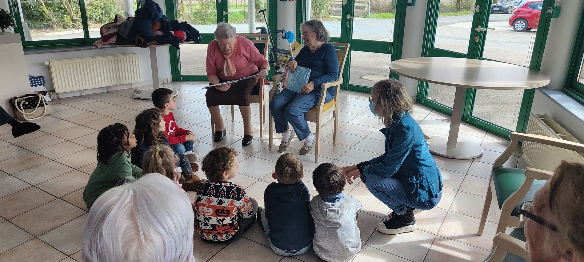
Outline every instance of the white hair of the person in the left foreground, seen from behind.
[(158, 173), (114, 187), (95, 201), (83, 228), (82, 261), (194, 262), (192, 204)]

